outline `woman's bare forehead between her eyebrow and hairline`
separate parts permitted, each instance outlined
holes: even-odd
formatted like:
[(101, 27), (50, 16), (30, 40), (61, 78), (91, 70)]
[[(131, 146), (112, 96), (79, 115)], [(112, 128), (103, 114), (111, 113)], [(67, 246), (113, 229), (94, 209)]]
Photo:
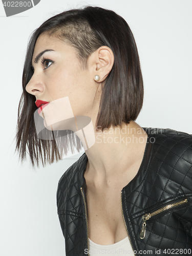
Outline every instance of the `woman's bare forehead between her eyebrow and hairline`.
[(47, 34), (41, 34), (36, 40), (34, 51), (33, 51), (33, 60), (42, 51), (46, 49), (51, 49), (60, 53), (70, 53), (75, 54), (75, 50), (67, 42), (61, 41), (56, 36), (49, 36)]

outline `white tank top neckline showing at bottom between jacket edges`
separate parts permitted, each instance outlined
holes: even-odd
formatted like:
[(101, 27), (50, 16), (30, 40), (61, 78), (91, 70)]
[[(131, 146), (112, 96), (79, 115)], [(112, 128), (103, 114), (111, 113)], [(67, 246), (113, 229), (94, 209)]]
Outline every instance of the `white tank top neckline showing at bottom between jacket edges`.
[(134, 255), (128, 237), (110, 245), (96, 244), (89, 238), (89, 253), (93, 255)]

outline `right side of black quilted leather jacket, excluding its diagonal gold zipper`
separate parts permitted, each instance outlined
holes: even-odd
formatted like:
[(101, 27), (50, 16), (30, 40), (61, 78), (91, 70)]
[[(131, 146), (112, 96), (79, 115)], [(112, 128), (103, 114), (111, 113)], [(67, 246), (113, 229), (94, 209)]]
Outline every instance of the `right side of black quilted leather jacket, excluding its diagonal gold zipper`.
[[(137, 251), (152, 250), (153, 255), (159, 248), (162, 254), (158, 255), (165, 255), (163, 249), (192, 249), (192, 137), (166, 130), (150, 136), (155, 138), (155, 143), (145, 151), (150, 161), (145, 168), (141, 166), (138, 177), (123, 191), (132, 243)], [(148, 220), (145, 238), (139, 238), (144, 214), (186, 197), (186, 206), (169, 209)]]

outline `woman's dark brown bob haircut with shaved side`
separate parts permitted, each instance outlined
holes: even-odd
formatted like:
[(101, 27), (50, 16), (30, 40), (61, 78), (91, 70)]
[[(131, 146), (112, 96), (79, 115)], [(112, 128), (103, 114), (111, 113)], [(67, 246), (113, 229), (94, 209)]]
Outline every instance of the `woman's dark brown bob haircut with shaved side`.
[[(72, 46), (84, 69), (87, 69), (88, 57), (99, 47), (108, 46), (113, 51), (113, 68), (102, 83), (96, 120), (96, 127), (101, 127), (99, 130), (136, 120), (143, 104), (143, 79), (136, 42), (129, 25), (121, 16), (108, 9), (86, 6), (49, 18), (32, 33), (29, 40), (22, 78), (23, 94), (18, 106), (16, 151), (23, 161), (28, 147), (32, 166), (34, 163), (38, 166), (39, 160), (44, 166), (46, 162), (61, 159), (54, 139), (42, 140), (37, 137), (34, 123), (36, 99), (26, 91), (26, 85), (33, 75), (31, 63), (35, 42), (42, 33), (55, 36)], [(77, 136), (75, 141), (72, 131), (68, 130), (67, 133), (79, 152), (81, 141)], [(67, 146), (64, 146), (66, 152)]]

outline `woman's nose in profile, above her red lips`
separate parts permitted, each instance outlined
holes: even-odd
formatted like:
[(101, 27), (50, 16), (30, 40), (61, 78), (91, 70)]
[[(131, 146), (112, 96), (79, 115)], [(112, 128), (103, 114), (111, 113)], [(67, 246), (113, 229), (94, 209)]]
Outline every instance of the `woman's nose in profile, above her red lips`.
[(34, 96), (37, 96), (40, 93), (44, 92), (44, 90), (45, 86), (42, 79), (39, 75), (34, 73), (26, 86), (26, 91)]

